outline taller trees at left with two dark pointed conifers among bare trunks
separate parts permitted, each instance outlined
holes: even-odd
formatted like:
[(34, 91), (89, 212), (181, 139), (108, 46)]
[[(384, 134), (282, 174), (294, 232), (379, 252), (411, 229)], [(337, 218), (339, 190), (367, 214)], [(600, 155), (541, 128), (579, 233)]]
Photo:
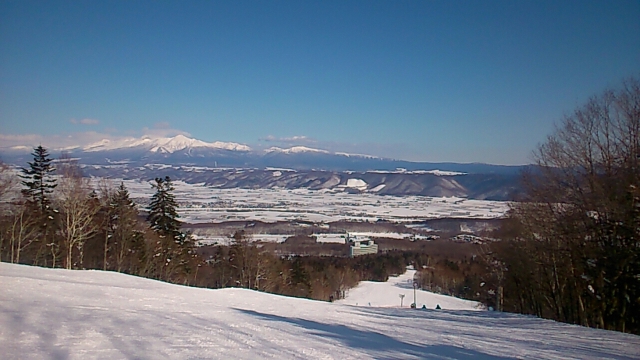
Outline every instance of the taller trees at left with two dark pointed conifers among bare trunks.
[(197, 266), (189, 238), (180, 231), (171, 180), (158, 178), (147, 221), (123, 184), (97, 190), (74, 161), (54, 162), (34, 149), (23, 168), (21, 196), (10, 169), (0, 176), (0, 259), (67, 269), (103, 269), (189, 283)]

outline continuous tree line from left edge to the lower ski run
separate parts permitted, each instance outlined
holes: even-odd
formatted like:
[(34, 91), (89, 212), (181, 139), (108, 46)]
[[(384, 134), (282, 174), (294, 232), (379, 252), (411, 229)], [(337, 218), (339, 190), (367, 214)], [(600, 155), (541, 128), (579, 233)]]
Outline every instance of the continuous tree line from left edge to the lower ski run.
[[(66, 269), (117, 271), (209, 288), (243, 287), (331, 301), (362, 280), (401, 274), (419, 255), (396, 252), (358, 258), (277, 256), (250, 234), (231, 234), (230, 246), (196, 247), (181, 230), (169, 177), (139, 211), (124, 184), (83, 177), (78, 164), (52, 160), (38, 146), (19, 184), (0, 171), (0, 260)], [(54, 166), (55, 165), (55, 166)]]

